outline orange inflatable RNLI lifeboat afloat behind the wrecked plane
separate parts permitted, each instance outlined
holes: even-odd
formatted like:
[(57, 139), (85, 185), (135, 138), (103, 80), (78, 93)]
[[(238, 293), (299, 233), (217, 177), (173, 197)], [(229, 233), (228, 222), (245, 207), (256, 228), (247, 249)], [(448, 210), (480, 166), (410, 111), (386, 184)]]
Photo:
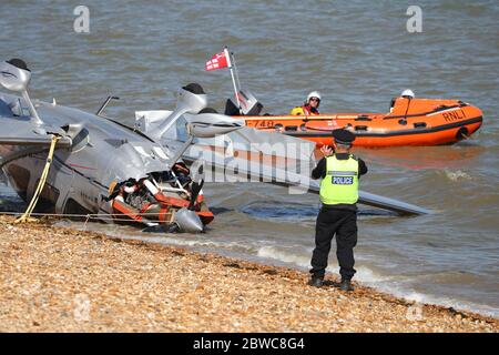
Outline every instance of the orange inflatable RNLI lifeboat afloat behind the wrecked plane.
[(442, 145), (473, 134), (481, 126), (482, 113), (458, 100), (401, 97), (393, 100), (388, 113), (246, 115), (245, 120), (248, 126), (302, 138), (318, 146), (330, 145), (332, 131), (342, 128), (355, 133), (356, 146)]

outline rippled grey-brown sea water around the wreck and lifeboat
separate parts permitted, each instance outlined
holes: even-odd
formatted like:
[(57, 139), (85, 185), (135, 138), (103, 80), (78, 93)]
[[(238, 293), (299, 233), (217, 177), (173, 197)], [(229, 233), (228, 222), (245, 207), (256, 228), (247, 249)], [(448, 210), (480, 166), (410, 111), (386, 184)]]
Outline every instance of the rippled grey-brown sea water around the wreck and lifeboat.
[[(80, 3), (90, 9), (89, 34), (73, 31)], [(230, 74), (205, 72), (204, 62), (223, 45), (271, 113), (288, 112), (312, 90), (323, 93), (323, 112), (385, 112), (406, 88), (479, 106), (485, 123), (467, 142), (356, 151), (370, 168), (363, 190), (437, 212), (361, 213), (356, 277), (499, 316), (499, 3), (418, 4), (421, 33), (406, 30), (408, 4), (399, 1), (2, 0), (0, 59), (28, 62), (37, 99), (94, 112), (106, 95), (120, 97), (108, 114), (128, 123), (135, 110), (172, 109), (177, 88), (193, 81), (222, 110)], [(4, 185), (0, 193), (1, 207), (13, 209), (16, 195)], [(316, 196), (263, 184), (212, 184), (205, 193), (217, 212), (207, 234), (151, 240), (308, 267)], [(337, 272), (334, 250), (330, 256)]]

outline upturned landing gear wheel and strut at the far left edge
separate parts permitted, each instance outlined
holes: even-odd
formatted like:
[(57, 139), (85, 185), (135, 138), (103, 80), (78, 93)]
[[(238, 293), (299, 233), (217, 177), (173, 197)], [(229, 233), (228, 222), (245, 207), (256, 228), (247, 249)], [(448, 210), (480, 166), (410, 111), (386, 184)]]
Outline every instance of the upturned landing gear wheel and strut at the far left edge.
[(42, 124), (43, 121), (34, 109), (30, 97), (28, 95), (28, 84), (31, 80), (31, 71), (28, 69), (26, 62), (21, 59), (11, 59), (0, 63), (0, 84), (7, 90), (19, 92), (22, 94), (30, 114), (35, 124)]

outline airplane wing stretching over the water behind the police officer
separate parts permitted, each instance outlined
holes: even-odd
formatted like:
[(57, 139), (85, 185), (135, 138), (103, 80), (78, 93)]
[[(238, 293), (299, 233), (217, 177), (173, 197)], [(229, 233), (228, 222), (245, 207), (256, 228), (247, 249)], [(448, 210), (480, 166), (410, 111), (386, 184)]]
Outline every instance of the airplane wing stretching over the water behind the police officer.
[[(267, 143), (274, 140), (277, 140), (278, 144), (282, 143), (282, 136), (276, 135), (275, 133), (244, 128), (225, 134), (225, 138), (198, 140), (195, 145), (184, 153), (183, 160), (192, 164), (202, 162), (206, 168), (210, 168), (204, 172), (205, 175), (211, 175), (206, 181), (213, 180), (216, 182), (226, 179), (228, 182), (264, 182), (288, 187), (291, 194), (299, 195), (307, 192), (318, 194), (320, 190), (319, 182), (309, 178), (312, 169), (315, 166), (315, 160), (312, 159), (315, 149), (314, 143), (307, 143), (302, 146), (301, 140), (296, 142), (296, 139), (291, 138), (291, 144), (301, 146), (297, 152), (292, 153), (292, 156), (273, 155), (267, 150), (255, 154), (258, 146), (257, 139), (262, 139), (265, 142), (263, 146), (268, 148)], [(218, 142), (215, 142), (216, 140)], [(245, 143), (247, 140), (252, 143)], [(227, 144), (227, 141), (232, 141), (232, 143)], [(287, 143), (289, 144), (289, 142)], [(220, 146), (224, 145), (224, 150), (220, 149)], [(308, 153), (309, 155), (307, 156)], [(307, 156), (307, 159), (304, 160), (304, 156)], [(365, 191), (359, 191), (358, 203), (401, 215), (430, 213), (427, 209)]]

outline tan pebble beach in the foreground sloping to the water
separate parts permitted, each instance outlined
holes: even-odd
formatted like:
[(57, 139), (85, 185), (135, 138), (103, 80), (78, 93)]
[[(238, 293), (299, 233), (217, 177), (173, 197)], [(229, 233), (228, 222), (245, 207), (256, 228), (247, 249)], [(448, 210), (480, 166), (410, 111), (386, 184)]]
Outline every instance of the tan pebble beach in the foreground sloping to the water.
[(0, 332), (499, 331), (334, 276), (314, 288), (296, 270), (12, 222), (0, 216)]

